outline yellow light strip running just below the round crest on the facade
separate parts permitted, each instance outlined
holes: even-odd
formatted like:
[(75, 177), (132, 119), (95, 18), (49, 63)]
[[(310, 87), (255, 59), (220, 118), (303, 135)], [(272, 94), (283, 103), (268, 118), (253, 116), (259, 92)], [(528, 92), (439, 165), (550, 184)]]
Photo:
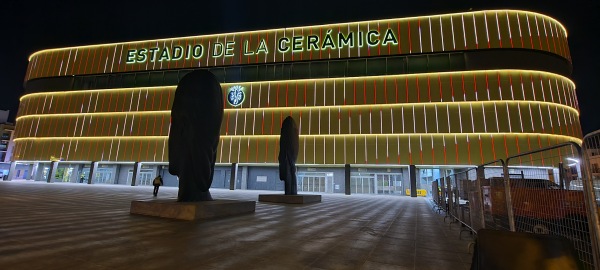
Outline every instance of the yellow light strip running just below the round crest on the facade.
[[(312, 109), (390, 109), (390, 108), (402, 108), (402, 107), (412, 107), (412, 106), (425, 106), (432, 107), (436, 105), (472, 105), (472, 104), (538, 104), (538, 105), (548, 105), (548, 106), (556, 106), (559, 108), (567, 109), (572, 111), (574, 114), (579, 116), (579, 111), (573, 107), (552, 103), (547, 101), (527, 101), (527, 100), (483, 100), (483, 101), (449, 101), (449, 102), (427, 102), (427, 103), (387, 103), (387, 104), (364, 104), (364, 105), (330, 105), (330, 106), (302, 106), (302, 107), (265, 107), (265, 108), (239, 108), (239, 109), (225, 109), (225, 112), (235, 112), (235, 111), (243, 111), (243, 112), (256, 112), (256, 111), (265, 111), (265, 112), (278, 112), (278, 111), (308, 111)], [(18, 122), (21, 119), (27, 118), (52, 118), (52, 117), (75, 117), (75, 116), (118, 116), (118, 115), (142, 115), (142, 114), (171, 114), (171, 111), (135, 111), (135, 112), (97, 112), (97, 113), (57, 113), (57, 114), (29, 114), (20, 116), (16, 119)]]

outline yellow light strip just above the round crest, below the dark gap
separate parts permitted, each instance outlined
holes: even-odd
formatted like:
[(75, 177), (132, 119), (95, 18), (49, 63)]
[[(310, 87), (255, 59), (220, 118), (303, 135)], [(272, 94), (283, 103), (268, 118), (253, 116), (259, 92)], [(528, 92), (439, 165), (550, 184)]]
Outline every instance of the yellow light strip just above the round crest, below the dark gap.
[[(337, 78), (318, 78), (318, 79), (295, 79), (295, 80), (280, 80), (280, 81), (255, 81), (255, 82), (237, 82), (237, 83), (221, 83), (222, 88), (227, 88), (229, 86), (243, 84), (243, 85), (260, 85), (260, 84), (283, 84), (283, 83), (314, 83), (314, 82), (329, 82), (329, 81), (352, 81), (352, 80), (369, 80), (369, 79), (399, 79), (399, 78), (413, 78), (413, 77), (427, 77), (432, 75), (477, 75), (477, 74), (489, 74), (489, 73), (535, 73), (549, 77), (558, 77), (561, 80), (565, 80), (571, 84), (573, 88), (575, 88), (575, 83), (562, 75), (547, 72), (547, 71), (539, 71), (539, 70), (526, 70), (526, 69), (492, 69), (492, 70), (467, 70), (467, 71), (448, 71), (448, 72), (430, 72), (430, 73), (418, 73), (418, 74), (398, 74), (398, 75), (379, 75), (379, 76), (362, 76), (362, 77), (337, 77)], [(152, 86), (152, 87), (130, 87), (130, 88), (107, 88), (107, 89), (95, 89), (95, 90), (66, 90), (59, 92), (40, 92), (40, 93), (31, 93), (21, 96), (19, 101), (23, 101), (24, 98), (30, 98), (35, 96), (45, 96), (45, 95), (68, 95), (72, 93), (94, 93), (94, 92), (121, 92), (121, 91), (132, 91), (132, 90), (164, 90), (172, 88), (173, 90), (177, 88), (176, 85), (170, 86)]]

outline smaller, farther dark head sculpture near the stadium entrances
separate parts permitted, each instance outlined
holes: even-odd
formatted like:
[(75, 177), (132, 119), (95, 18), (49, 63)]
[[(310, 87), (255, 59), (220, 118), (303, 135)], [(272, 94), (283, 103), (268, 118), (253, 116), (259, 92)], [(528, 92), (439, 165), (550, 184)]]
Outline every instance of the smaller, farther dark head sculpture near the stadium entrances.
[(298, 127), (288, 116), (281, 124), (279, 137), (279, 179), (285, 182), (285, 195), (297, 195), (296, 159), (298, 158)]

